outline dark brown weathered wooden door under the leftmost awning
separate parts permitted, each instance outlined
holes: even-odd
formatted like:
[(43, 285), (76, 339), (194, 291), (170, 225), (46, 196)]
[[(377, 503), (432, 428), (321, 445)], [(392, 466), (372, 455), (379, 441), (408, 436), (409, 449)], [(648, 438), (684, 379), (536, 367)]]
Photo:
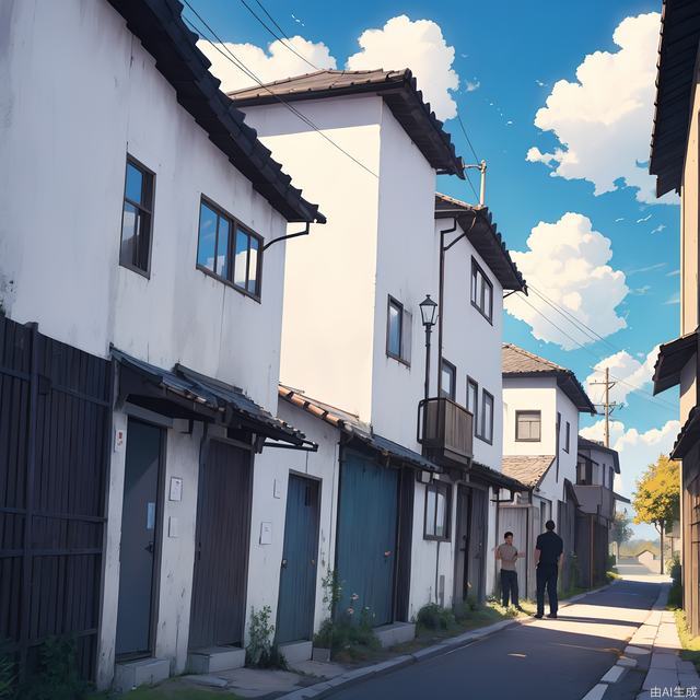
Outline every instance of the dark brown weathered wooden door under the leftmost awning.
[(241, 644), (250, 535), (252, 455), (212, 440), (199, 472), (189, 648)]

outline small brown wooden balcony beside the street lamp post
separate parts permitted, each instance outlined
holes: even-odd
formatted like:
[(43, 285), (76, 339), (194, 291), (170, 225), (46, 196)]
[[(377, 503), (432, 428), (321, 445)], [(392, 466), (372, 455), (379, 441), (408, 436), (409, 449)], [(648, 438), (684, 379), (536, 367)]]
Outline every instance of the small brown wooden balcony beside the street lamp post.
[(425, 398), (418, 405), (418, 442), (441, 466), (469, 466), (474, 456), (474, 416), (448, 398)]

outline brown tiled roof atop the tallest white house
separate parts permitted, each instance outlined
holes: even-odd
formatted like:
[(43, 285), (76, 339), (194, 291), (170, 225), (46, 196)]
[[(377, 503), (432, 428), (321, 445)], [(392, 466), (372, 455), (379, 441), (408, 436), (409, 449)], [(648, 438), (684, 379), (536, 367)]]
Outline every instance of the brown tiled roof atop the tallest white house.
[(456, 154), (452, 137), (435, 117), (430, 103), (416, 84), (413, 73), (404, 70), (319, 70), (285, 78), (264, 86), (246, 88), (229, 93), (236, 107), (322, 100), (342, 95), (375, 94), (404, 127), (425, 160), (441, 174), (464, 179), (464, 164)]

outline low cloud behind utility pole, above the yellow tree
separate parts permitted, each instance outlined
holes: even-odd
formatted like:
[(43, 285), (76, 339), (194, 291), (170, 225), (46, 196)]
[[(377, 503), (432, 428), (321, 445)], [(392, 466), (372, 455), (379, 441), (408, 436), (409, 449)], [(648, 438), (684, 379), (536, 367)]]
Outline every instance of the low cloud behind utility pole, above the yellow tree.
[[(660, 455), (668, 455), (673, 448), (680, 422), (669, 420), (661, 428), (639, 431), (627, 428), (621, 421), (610, 421), (610, 446), (620, 455), (620, 475), (615, 477), (615, 489), (618, 493), (630, 498), (638, 479), (646, 467), (656, 462)], [(603, 440), (605, 421), (599, 420), (581, 434), (588, 440)]]

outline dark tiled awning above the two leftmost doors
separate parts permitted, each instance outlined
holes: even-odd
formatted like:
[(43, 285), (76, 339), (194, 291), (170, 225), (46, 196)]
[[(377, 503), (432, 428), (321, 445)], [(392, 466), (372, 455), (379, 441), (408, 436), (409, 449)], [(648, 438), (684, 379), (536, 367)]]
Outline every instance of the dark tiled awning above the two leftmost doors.
[(164, 370), (116, 348), (112, 357), (122, 368), (119, 390), (130, 402), (172, 418), (215, 422), (293, 445), (308, 443), (304, 433), (275, 418), (235, 386), (182, 364)]

